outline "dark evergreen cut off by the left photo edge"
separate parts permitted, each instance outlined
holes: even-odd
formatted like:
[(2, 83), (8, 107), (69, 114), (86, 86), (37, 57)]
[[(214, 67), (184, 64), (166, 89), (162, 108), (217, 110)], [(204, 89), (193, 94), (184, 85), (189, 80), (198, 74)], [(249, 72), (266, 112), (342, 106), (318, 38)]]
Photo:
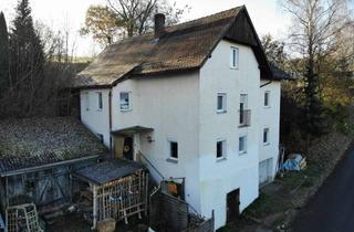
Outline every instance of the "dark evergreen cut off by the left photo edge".
[(9, 87), (9, 34), (4, 15), (0, 12), (0, 97)]

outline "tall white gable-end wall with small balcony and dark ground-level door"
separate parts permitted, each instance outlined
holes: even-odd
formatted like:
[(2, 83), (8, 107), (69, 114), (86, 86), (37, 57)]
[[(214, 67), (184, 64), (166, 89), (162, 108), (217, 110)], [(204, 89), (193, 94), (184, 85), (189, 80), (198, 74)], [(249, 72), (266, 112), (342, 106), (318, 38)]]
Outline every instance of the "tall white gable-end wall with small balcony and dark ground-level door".
[[(239, 68), (230, 68), (230, 48), (239, 49)], [(260, 71), (252, 50), (221, 41), (200, 71), (200, 194), (201, 214), (215, 210), (216, 229), (225, 225), (227, 193), (240, 189), (240, 211), (258, 197)], [(227, 113), (217, 114), (217, 94), (227, 94)], [(239, 127), (240, 94), (248, 94), (251, 125)], [(247, 135), (247, 154), (239, 154), (239, 136)], [(227, 140), (227, 157), (216, 158), (216, 143)]]

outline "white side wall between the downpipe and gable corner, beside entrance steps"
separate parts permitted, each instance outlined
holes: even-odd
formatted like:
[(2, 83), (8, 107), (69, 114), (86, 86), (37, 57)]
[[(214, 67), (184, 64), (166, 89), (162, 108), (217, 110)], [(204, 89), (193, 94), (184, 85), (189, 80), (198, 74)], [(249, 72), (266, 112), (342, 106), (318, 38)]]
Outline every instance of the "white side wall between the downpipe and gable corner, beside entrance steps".
[[(127, 80), (113, 88), (113, 130), (132, 126), (154, 128), (135, 136), (140, 151), (165, 178), (186, 178), (186, 200), (199, 209), (198, 125), (199, 73)], [(132, 93), (132, 110), (121, 112), (119, 93)], [(147, 136), (152, 136), (152, 143)], [(178, 162), (168, 161), (168, 139), (178, 141)], [(155, 180), (162, 178), (146, 164)]]

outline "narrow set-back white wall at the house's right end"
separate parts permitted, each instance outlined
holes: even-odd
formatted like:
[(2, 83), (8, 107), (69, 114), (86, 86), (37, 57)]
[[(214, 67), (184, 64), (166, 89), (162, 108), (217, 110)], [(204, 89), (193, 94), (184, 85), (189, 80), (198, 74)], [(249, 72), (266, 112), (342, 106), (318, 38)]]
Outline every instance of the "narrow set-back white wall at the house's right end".
[[(260, 133), (259, 133), (259, 161), (272, 158), (272, 166), (270, 167), (270, 180), (274, 178), (275, 167), (279, 156), (279, 129), (280, 129), (280, 82), (261, 81), (260, 88)], [(269, 106), (264, 106), (264, 92), (270, 93)], [(269, 144), (263, 144), (263, 129), (269, 128)]]

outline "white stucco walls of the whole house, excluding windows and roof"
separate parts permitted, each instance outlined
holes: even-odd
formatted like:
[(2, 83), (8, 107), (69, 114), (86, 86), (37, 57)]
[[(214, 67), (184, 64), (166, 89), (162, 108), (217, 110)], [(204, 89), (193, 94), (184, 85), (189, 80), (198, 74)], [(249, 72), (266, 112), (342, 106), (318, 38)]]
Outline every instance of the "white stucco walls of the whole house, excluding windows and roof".
[[(239, 52), (238, 68), (230, 67), (230, 49)], [(259, 162), (273, 158), (279, 144), (280, 83), (260, 80), (253, 51), (246, 45), (220, 41), (199, 71), (118, 83), (112, 89), (81, 91), (82, 122), (110, 146), (110, 130), (144, 126), (149, 134), (134, 136), (134, 150), (142, 152), (165, 177), (186, 178), (186, 201), (199, 213), (215, 211), (216, 229), (227, 220), (227, 194), (239, 189), (242, 211), (259, 194)], [(108, 96), (112, 92), (112, 128)], [(263, 92), (269, 91), (270, 107), (263, 107)], [(97, 92), (103, 93), (103, 109), (97, 110)], [(121, 110), (119, 94), (131, 94), (129, 110)], [(86, 109), (88, 93), (90, 108)], [(218, 94), (226, 96), (226, 112), (217, 112)], [(240, 127), (241, 95), (250, 124)], [(269, 128), (270, 143), (262, 143), (263, 128)], [(240, 152), (239, 138), (246, 136), (246, 152)], [(150, 137), (150, 138), (148, 138)], [(178, 160), (169, 159), (169, 141), (178, 143)], [(225, 141), (217, 158), (217, 141)], [(148, 164), (153, 177), (159, 175)]]

